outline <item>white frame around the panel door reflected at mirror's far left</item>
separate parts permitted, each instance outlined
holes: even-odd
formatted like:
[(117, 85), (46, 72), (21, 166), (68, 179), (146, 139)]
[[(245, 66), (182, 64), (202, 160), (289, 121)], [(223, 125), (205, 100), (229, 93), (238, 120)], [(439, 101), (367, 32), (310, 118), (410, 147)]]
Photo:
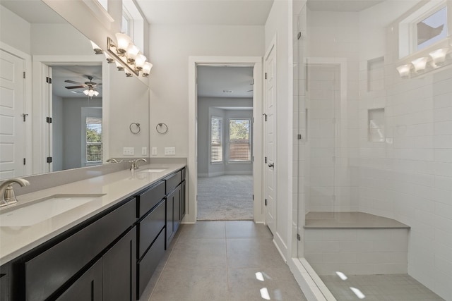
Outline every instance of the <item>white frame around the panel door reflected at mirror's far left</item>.
[(25, 176), (32, 174), (32, 154), (33, 154), (33, 136), (32, 136), (32, 123), (35, 120), (35, 116), (32, 114), (32, 57), (30, 54), (26, 54), (19, 49), (16, 49), (4, 42), (0, 42), (0, 49), (9, 52), (13, 56), (17, 56), (24, 61), (25, 68), (25, 87), (24, 87), (24, 112), (28, 114), (27, 122), (25, 123), (25, 159), (27, 164), (25, 164)]

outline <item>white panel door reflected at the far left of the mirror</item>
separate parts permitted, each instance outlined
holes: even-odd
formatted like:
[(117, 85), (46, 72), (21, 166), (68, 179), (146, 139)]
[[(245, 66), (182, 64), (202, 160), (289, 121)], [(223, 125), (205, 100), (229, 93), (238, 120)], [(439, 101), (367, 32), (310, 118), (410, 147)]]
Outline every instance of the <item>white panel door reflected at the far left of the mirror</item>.
[(0, 180), (25, 175), (25, 61), (0, 49)]

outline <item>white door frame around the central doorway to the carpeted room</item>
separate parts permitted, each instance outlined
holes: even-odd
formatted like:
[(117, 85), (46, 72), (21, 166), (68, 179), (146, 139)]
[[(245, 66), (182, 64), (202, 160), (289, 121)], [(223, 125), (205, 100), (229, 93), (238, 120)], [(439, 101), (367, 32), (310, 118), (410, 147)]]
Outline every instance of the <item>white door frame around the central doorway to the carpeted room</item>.
[(198, 161), (197, 161), (197, 89), (196, 66), (200, 64), (249, 64), (253, 66), (254, 94), (253, 94), (253, 219), (256, 223), (263, 223), (263, 185), (262, 185), (262, 57), (261, 56), (189, 56), (189, 158), (187, 169), (189, 177), (188, 206), (184, 223), (196, 223), (198, 195)]

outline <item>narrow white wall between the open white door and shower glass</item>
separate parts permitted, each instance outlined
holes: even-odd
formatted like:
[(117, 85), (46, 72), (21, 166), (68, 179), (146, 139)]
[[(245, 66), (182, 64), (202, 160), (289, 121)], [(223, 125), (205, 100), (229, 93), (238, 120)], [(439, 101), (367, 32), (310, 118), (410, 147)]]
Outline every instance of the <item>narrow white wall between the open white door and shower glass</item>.
[[(276, 37), (277, 191), (274, 240), (287, 259), (292, 233), (292, 2), (274, 1), (265, 26), (265, 49)], [(295, 233), (296, 234), (296, 233)], [(294, 234), (294, 235), (295, 235)]]

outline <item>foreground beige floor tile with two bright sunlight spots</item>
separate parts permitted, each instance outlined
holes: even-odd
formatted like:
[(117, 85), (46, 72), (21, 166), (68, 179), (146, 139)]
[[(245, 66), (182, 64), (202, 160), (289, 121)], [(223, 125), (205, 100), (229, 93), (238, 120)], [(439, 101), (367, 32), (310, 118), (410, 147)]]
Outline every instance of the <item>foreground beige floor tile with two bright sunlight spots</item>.
[(288, 268), (229, 269), (227, 277), (231, 301), (306, 300)]

